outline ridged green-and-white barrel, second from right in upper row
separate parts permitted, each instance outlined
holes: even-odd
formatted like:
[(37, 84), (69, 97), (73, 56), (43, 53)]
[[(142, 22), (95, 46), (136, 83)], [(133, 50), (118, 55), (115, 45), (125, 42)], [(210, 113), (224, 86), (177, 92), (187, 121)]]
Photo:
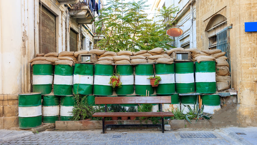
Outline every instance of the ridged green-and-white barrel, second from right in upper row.
[(194, 62), (175, 63), (175, 88), (180, 94), (195, 92)]

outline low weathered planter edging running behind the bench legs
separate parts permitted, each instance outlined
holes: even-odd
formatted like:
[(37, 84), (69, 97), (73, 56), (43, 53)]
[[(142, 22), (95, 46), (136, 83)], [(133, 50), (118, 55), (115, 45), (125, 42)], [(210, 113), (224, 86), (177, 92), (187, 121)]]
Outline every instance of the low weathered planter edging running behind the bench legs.
[[(161, 123), (161, 121), (159, 121)], [(172, 129), (179, 128), (205, 128), (212, 129), (215, 127), (226, 127), (229, 124), (222, 121), (211, 120), (194, 120), (190, 124), (187, 120), (165, 120), (164, 124), (169, 124)], [(139, 120), (117, 120), (105, 121), (105, 124), (152, 124), (152, 121), (139, 121)], [(102, 121), (56, 121), (55, 129), (102, 129)]]

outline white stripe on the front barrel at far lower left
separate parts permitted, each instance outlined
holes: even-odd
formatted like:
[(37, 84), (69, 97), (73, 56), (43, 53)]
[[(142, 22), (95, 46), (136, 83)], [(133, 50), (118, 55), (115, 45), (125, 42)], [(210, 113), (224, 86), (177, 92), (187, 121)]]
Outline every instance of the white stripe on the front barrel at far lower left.
[(31, 107), (19, 107), (19, 117), (35, 117), (42, 115), (42, 107), (31, 106)]

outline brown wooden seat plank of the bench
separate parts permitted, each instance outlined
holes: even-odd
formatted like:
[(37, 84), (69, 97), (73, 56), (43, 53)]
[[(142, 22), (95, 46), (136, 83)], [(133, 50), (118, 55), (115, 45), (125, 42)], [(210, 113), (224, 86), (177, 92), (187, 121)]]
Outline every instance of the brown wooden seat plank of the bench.
[(96, 112), (93, 117), (172, 117), (172, 112)]

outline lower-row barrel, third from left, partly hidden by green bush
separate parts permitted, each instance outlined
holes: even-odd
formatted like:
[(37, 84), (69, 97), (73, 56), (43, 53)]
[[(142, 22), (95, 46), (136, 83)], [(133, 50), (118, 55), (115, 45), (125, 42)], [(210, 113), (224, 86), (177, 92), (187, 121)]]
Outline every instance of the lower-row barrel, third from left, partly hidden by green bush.
[(69, 121), (73, 117), (72, 109), (75, 101), (73, 95), (61, 96), (60, 121)]

